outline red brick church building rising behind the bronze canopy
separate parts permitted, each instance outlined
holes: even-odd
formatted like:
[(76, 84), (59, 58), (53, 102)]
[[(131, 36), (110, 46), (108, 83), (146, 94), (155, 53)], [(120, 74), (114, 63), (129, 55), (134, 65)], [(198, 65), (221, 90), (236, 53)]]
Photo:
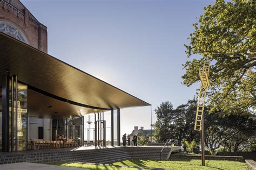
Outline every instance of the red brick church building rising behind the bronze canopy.
[(47, 27), (19, 0), (0, 0), (0, 32), (47, 53)]

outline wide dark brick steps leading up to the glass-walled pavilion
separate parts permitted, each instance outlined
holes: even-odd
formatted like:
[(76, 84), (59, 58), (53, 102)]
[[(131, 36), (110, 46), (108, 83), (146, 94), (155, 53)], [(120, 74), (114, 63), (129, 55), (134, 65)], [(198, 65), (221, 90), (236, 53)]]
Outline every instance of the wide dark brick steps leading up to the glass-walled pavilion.
[(131, 159), (131, 157), (123, 147), (81, 151), (48, 150), (0, 154), (0, 164), (11, 164), (15, 162), (33, 162), (41, 164), (55, 162), (107, 163), (125, 159)]

